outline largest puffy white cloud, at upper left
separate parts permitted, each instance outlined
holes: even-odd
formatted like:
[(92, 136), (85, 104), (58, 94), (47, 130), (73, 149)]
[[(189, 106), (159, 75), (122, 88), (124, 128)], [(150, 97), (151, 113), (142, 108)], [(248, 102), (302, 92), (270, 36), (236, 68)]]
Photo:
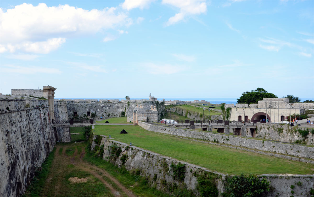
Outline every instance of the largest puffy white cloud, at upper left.
[(0, 51), (48, 53), (66, 38), (131, 24), (133, 20), (116, 8), (89, 11), (67, 4), (48, 7), (45, 3), (23, 3), (6, 11), (0, 8)]

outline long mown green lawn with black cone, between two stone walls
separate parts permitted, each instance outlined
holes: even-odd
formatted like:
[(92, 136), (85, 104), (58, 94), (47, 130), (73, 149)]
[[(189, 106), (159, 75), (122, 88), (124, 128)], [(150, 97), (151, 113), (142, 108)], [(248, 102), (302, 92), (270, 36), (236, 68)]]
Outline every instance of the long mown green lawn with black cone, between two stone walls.
[[(119, 134), (125, 129), (128, 134)], [(261, 155), (147, 131), (140, 126), (95, 125), (95, 135), (111, 135), (117, 141), (228, 174), (313, 174), (310, 163)]]

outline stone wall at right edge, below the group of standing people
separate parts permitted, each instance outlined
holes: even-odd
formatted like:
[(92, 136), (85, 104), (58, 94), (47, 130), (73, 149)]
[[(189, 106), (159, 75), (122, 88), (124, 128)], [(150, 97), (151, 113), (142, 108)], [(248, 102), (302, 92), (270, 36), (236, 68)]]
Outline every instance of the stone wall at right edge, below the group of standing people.
[[(306, 138), (303, 138), (298, 130), (309, 130), (309, 134)], [(304, 140), (307, 145), (314, 145), (314, 134), (311, 133), (311, 128), (296, 128), (288, 125), (264, 124), (258, 122), (256, 137), (290, 143), (295, 143), (297, 140)]]

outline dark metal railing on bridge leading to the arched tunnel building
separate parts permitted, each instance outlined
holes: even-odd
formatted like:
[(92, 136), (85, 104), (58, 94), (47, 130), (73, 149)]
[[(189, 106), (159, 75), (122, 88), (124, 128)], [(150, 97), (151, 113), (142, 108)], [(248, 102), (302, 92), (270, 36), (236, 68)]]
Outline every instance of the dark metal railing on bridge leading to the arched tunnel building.
[(251, 120), (160, 120), (165, 125), (256, 125), (257, 121)]

